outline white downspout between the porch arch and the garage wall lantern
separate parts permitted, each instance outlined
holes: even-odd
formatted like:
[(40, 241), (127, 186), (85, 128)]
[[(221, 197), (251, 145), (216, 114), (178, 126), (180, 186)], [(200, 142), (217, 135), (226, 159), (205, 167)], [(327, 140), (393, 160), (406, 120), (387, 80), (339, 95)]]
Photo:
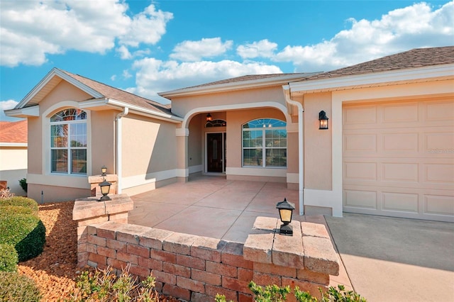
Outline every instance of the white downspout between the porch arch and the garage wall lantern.
[(301, 103), (290, 99), (289, 85), (282, 86), (285, 101), (298, 108), (298, 184), (299, 184), (299, 215), (304, 215), (304, 108)]

